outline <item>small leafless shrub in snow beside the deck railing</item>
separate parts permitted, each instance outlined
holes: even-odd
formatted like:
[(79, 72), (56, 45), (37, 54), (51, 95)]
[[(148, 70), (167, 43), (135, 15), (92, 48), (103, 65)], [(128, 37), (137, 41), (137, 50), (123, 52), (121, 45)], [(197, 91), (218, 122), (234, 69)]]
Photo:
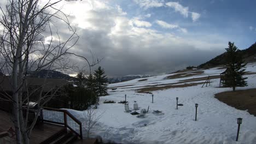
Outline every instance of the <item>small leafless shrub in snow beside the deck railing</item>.
[(102, 117), (102, 114), (103, 113), (97, 113), (97, 111), (91, 107), (86, 111), (83, 111), (83, 128), (85, 129), (88, 138), (92, 131), (100, 126), (98, 120)]

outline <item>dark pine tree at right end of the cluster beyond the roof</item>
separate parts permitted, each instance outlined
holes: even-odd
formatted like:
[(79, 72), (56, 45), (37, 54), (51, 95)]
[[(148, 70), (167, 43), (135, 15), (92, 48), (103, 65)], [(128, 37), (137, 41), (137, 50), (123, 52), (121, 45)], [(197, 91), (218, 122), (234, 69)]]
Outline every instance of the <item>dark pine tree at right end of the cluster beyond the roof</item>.
[(104, 69), (101, 69), (101, 67), (98, 67), (97, 70), (94, 72), (95, 76), (95, 89), (96, 93), (100, 96), (108, 95), (107, 93), (107, 76), (104, 75), (105, 71)]

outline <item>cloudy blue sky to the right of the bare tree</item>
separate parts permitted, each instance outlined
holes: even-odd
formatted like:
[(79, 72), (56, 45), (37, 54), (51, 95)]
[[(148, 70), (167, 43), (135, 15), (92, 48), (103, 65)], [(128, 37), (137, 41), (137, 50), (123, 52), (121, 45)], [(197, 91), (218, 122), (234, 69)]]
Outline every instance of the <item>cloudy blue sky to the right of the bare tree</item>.
[(80, 39), (72, 51), (89, 60), (91, 52), (103, 58), (99, 65), (109, 76), (170, 73), (210, 60), (225, 51), (228, 41), (239, 49), (256, 41), (252, 0), (83, 0), (60, 5), (78, 28)]

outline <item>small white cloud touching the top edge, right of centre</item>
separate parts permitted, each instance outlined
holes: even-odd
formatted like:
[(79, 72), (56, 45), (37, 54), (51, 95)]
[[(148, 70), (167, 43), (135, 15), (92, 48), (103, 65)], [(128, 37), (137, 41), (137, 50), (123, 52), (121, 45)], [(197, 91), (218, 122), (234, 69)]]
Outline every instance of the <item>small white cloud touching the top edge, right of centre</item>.
[(141, 8), (148, 9), (154, 7), (162, 7), (164, 3), (158, 0), (133, 0), (135, 3), (139, 4)]

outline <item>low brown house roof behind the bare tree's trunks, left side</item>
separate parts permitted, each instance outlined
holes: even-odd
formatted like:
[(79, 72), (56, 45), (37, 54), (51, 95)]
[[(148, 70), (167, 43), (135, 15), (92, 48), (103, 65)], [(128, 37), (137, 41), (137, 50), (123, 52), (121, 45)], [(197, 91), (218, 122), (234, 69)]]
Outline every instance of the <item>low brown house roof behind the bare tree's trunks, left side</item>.
[[(37, 77), (28, 77), (26, 79), (27, 86), (42, 87), (44, 92), (49, 92), (56, 87), (62, 87), (69, 82), (65, 79), (45, 79)], [(24, 85), (24, 91), (26, 91), (26, 85)], [(0, 91), (12, 91), (10, 76), (0, 76)]]

